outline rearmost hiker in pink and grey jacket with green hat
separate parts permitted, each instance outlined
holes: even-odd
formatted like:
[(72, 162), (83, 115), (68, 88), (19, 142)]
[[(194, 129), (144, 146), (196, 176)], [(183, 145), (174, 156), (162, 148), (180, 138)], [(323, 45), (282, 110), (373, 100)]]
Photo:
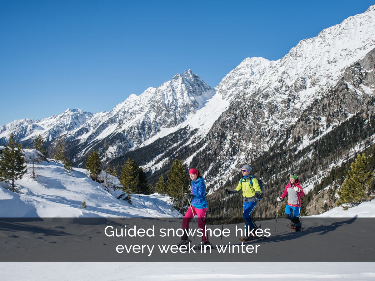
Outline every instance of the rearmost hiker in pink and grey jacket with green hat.
[(302, 190), (300, 180), (296, 174), (289, 176), (289, 183), (285, 187), (284, 192), (278, 197), (278, 201), (284, 200), (285, 196), (288, 195), (288, 204), (285, 206), (285, 218), (291, 220), (292, 224), (290, 227), (293, 229), (296, 227), (296, 232), (301, 231), (300, 222), (300, 211), (301, 211), (301, 198), (305, 196)]

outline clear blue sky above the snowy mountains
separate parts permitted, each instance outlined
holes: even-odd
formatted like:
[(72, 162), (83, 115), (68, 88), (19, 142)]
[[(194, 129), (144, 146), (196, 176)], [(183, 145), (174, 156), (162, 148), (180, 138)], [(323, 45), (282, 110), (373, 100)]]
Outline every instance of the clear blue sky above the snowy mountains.
[(186, 69), (211, 87), (374, 1), (0, 1), (0, 126), (109, 111)]

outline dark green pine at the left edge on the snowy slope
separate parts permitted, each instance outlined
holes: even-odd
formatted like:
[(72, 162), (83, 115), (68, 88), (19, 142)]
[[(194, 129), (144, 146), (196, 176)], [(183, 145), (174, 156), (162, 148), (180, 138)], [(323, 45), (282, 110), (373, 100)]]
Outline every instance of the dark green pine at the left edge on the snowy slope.
[(4, 144), (3, 154), (0, 155), (0, 181), (12, 182), (12, 191), (15, 191), (14, 181), (21, 179), (27, 172), (24, 165), (22, 145), (14, 140), (13, 134)]

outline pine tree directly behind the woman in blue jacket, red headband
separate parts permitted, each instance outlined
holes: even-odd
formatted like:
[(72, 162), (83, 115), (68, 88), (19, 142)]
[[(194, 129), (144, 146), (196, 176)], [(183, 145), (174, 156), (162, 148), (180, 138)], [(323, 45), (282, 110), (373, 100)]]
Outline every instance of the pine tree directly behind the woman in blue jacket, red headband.
[(189, 190), (189, 179), (186, 176), (185, 167), (181, 161), (174, 159), (168, 174), (168, 195), (173, 202), (173, 209), (177, 209), (181, 214), (186, 209), (184, 194)]

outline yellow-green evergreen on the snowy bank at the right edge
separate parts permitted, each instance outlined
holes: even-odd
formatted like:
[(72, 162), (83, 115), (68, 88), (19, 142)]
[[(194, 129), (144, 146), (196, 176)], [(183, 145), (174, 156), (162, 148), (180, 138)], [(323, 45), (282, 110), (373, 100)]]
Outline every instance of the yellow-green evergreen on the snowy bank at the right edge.
[[(374, 172), (368, 169), (367, 157), (363, 153), (358, 154), (356, 160), (350, 164), (348, 176), (341, 185), (338, 195), (340, 196), (337, 205), (349, 203), (351, 206), (368, 200), (369, 189), (374, 180)], [(347, 209), (348, 207), (343, 207)]]

